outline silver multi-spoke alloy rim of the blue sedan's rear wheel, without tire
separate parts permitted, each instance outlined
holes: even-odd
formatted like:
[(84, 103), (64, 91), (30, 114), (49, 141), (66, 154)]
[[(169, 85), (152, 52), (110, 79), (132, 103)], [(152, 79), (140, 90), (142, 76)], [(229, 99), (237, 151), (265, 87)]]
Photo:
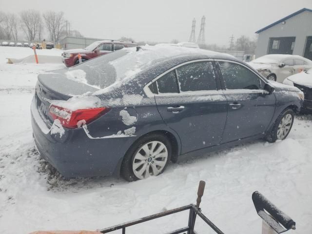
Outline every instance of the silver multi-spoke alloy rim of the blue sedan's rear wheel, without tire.
[(166, 166), (168, 149), (160, 141), (149, 141), (141, 146), (135, 154), (132, 169), (139, 179), (157, 176)]

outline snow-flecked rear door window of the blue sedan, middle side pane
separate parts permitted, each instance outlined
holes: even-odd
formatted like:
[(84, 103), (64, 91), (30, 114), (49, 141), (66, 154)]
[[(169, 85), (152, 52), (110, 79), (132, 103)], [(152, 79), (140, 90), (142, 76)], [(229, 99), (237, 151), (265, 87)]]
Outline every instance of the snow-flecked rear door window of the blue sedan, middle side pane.
[(180, 92), (216, 90), (212, 62), (194, 62), (176, 69)]

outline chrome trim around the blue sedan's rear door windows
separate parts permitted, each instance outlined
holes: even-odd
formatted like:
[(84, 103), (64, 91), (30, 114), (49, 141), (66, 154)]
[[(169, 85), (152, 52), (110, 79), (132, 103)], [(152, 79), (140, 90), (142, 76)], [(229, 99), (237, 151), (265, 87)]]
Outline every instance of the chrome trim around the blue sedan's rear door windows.
[[(173, 68), (170, 68), (169, 70), (163, 72), (162, 74), (160, 74), (159, 76), (157, 76), (156, 78), (152, 79), (150, 82), (148, 82), (144, 88), (143, 88), (143, 91), (145, 93), (145, 95), (148, 97), (148, 98), (151, 98), (151, 97), (167, 97), (167, 96), (181, 96), (183, 94), (186, 94), (186, 93), (189, 93), (189, 92), (181, 92), (180, 93), (164, 93), (164, 94), (161, 94), (158, 92), (158, 94), (154, 94), (151, 92), (151, 90), (149, 89), (149, 85), (152, 84), (153, 82), (155, 82), (157, 79), (163, 77), (164, 75), (166, 75), (167, 73), (175, 70), (176, 68), (178, 67), (181, 67), (183, 65), (186, 65), (186, 64), (189, 64), (189, 63), (194, 63), (194, 62), (204, 62), (204, 61), (210, 61), (210, 62), (213, 62), (215, 59), (195, 59), (195, 60), (192, 60), (192, 61), (187, 61), (187, 62), (183, 62), (183, 63), (180, 63), (178, 65), (176, 65), (175, 67)], [(215, 70), (214, 70), (215, 72)], [(216, 76), (215, 76), (216, 77)], [(157, 84), (157, 83), (156, 83)], [(191, 92), (215, 92), (215, 91), (218, 91), (218, 90), (200, 90), (200, 91), (191, 91)], [(207, 93), (209, 94), (209, 93)], [(193, 94), (190, 94), (190, 95), (193, 95)], [(194, 94), (194, 95), (203, 95), (203, 94)]]

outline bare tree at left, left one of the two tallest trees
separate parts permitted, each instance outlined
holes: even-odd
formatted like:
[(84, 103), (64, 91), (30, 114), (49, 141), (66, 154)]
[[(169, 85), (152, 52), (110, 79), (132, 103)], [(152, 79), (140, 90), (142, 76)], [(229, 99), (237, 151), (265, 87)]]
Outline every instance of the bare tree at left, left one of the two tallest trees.
[(34, 40), (41, 20), (40, 12), (36, 10), (25, 10), (20, 12), (21, 26), (28, 40)]

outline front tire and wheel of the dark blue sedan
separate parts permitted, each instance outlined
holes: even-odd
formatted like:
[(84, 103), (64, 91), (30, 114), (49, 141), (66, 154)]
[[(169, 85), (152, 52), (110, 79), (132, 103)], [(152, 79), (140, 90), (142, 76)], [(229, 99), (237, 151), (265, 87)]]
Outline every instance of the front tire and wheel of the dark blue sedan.
[(292, 130), (294, 112), (292, 109), (285, 109), (276, 119), (272, 131), (266, 136), (266, 140), (273, 143), (276, 140), (284, 140)]

